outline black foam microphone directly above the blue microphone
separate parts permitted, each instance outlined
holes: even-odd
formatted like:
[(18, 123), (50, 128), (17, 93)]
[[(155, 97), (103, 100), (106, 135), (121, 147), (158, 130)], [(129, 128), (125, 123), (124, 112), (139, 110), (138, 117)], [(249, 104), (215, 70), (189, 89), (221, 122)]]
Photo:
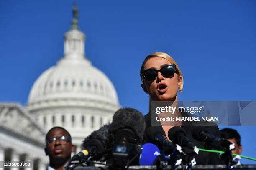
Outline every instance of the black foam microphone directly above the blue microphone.
[(151, 126), (148, 128), (146, 132), (146, 136), (149, 140), (149, 142), (154, 143), (156, 145), (159, 145), (160, 147), (163, 147), (164, 150), (171, 149), (172, 151), (175, 150), (176, 145), (169, 141), (163, 134), (162, 134), (162, 128), (159, 126)]

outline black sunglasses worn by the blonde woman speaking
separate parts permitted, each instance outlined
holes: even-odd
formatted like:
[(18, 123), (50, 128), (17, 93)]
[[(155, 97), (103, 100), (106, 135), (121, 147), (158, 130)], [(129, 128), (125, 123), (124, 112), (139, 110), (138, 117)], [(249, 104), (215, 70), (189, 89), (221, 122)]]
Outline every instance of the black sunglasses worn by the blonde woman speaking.
[(176, 65), (175, 64), (169, 64), (169, 65), (165, 65), (160, 70), (156, 70), (154, 68), (150, 68), (150, 69), (147, 69), (147, 70), (142, 70), (141, 71), (141, 76), (145, 80), (152, 81), (152, 80), (156, 79), (158, 72), (161, 72), (161, 75), (163, 75), (164, 77), (173, 77), (174, 73), (178, 73), (177, 70), (176, 70)]

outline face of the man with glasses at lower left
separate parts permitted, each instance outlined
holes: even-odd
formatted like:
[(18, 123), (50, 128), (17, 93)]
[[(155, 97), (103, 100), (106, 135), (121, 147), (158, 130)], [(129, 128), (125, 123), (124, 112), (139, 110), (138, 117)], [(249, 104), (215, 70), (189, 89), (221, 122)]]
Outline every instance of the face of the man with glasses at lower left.
[[(68, 136), (68, 133), (65, 130), (60, 128), (55, 128), (51, 130), (47, 139), (56, 138), (60, 136)], [(71, 152), (75, 149), (74, 145), (70, 141), (63, 142), (56, 139), (55, 142), (46, 143), (46, 148), (44, 149), (46, 155), (49, 155), (50, 160), (55, 159), (69, 159)]]

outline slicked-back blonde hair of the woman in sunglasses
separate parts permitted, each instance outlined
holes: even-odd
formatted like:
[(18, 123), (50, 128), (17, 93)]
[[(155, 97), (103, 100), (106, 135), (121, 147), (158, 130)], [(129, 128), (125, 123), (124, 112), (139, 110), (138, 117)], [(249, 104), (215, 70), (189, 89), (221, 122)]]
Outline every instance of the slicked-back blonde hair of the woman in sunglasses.
[[(168, 54), (166, 54), (164, 52), (154, 52), (154, 53), (148, 55), (145, 58), (145, 60), (143, 61), (142, 65), (141, 65), (141, 71), (144, 70), (144, 65), (147, 62), (147, 60), (150, 59), (150, 58), (153, 58), (153, 57), (164, 58), (167, 61), (169, 61), (171, 64), (175, 64), (176, 65), (176, 70), (177, 70), (178, 74), (182, 76), (182, 82), (181, 82), (181, 85), (179, 86), (179, 92), (182, 92), (182, 90), (183, 90), (183, 75), (182, 75), (182, 72), (181, 72), (181, 70), (179, 68), (179, 65), (176, 63), (176, 61), (171, 56), (169, 56)], [(142, 76), (141, 76), (141, 81), (143, 82), (143, 77)]]

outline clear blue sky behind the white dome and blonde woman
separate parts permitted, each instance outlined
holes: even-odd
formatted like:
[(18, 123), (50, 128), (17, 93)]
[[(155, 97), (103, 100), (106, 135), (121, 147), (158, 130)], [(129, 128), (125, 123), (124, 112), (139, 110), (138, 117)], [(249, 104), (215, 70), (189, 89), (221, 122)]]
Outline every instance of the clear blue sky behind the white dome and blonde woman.
[[(36, 78), (63, 56), (74, 1), (0, 1), (0, 101), (26, 105)], [(179, 100), (256, 100), (256, 1), (76, 0), (86, 55), (123, 107), (148, 111), (139, 69), (166, 52), (184, 75)], [(256, 127), (233, 127), (256, 157)], [(242, 160), (242, 163), (256, 163)]]

